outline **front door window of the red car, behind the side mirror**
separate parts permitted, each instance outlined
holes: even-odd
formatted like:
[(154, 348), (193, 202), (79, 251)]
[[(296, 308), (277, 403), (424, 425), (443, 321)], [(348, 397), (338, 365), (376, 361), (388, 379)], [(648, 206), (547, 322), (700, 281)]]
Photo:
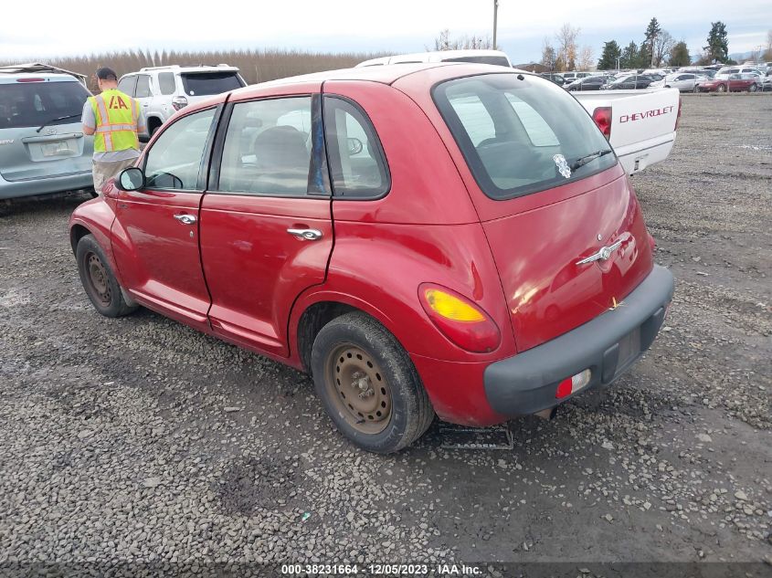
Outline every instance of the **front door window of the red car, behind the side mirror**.
[(145, 156), (148, 188), (201, 190), (198, 177), (214, 118), (215, 109), (195, 112), (174, 122), (158, 136)]

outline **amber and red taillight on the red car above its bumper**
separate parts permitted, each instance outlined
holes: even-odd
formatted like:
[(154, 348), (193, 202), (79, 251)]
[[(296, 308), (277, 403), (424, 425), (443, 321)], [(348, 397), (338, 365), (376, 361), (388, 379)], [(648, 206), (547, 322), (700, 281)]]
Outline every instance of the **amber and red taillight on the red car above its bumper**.
[(439, 331), (461, 349), (492, 352), (502, 341), (499, 328), (488, 314), (455, 291), (422, 283), (418, 299)]

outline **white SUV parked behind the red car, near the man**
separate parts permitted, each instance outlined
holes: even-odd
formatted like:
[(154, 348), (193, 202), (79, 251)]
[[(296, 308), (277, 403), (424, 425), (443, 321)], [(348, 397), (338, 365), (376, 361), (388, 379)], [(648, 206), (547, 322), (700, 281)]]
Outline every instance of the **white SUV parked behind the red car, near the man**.
[(118, 89), (140, 101), (147, 132), (153, 132), (174, 114), (196, 100), (247, 86), (238, 68), (217, 66), (166, 66), (141, 68), (123, 75)]

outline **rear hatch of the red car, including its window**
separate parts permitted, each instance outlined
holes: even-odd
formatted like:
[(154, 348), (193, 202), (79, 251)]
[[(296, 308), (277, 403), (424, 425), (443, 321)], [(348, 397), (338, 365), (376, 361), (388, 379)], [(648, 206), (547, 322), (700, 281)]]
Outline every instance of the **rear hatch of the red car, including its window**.
[(434, 99), (469, 169), (518, 350), (622, 304), (652, 268), (649, 236), (587, 111), (530, 75), (454, 79)]

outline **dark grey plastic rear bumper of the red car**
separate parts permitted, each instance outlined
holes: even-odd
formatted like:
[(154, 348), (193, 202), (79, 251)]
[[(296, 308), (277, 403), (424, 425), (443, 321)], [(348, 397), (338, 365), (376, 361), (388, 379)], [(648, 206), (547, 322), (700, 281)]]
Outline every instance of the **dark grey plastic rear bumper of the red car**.
[[(660, 331), (673, 289), (672, 273), (655, 265), (617, 309), (550, 342), (488, 365), (483, 383), (493, 411), (528, 415), (562, 404), (570, 396), (556, 399), (557, 385), (586, 369), (591, 372), (589, 384), (577, 393), (613, 382), (649, 349)], [(629, 349), (630, 342), (635, 344), (633, 349)], [(623, 359), (619, 359), (620, 345), (627, 350)]]

